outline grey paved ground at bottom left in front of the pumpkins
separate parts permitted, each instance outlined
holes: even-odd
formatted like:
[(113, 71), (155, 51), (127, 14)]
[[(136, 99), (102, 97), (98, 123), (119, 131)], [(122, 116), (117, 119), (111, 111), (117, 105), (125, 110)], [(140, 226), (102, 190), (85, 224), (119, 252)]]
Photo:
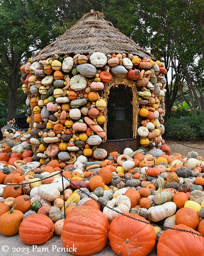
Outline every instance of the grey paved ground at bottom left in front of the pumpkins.
[[(85, 249), (86, 250), (86, 249)], [(64, 251), (61, 239), (57, 235), (53, 235), (47, 243), (43, 245), (26, 245), (19, 235), (5, 236), (0, 234), (0, 256), (73, 256), (69, 252)], [(93, 254), (93, 256), (116, 256), (110, 246), (106, 246), (103, 250)]]

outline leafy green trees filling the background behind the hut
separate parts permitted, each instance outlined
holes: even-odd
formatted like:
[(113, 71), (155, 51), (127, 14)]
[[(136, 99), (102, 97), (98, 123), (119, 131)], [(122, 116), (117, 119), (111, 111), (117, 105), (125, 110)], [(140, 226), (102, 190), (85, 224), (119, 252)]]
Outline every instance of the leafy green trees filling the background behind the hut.
[(180, 95), (192, 111), (204, 111), (204, 0), (0, 0), (0, 85), (9, 91), (8, 120), (27, 97), (19, 93), (21, 64), (91, 9), (165, 63), (167, 111)]

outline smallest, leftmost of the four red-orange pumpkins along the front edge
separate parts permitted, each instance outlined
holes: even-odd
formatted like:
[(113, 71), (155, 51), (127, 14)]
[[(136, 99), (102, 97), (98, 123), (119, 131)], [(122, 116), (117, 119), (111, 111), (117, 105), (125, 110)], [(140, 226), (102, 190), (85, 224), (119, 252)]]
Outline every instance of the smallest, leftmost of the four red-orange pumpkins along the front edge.
[(53, 236), (53, 233), (53, 221), (43, 214), (27, 216), (19, 228), (19, 236), (26, 245), (42, 245)]

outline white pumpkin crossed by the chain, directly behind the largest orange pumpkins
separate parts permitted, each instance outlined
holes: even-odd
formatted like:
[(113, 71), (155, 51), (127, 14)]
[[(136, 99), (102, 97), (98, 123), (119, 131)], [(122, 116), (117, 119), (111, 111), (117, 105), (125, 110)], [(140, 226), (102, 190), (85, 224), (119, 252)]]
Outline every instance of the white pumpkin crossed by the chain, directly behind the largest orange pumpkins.
[[(130, 210), (131, 202), (129, 197), (127, 197), (126, 195), (118, 195), (116, 198), (108, 201), (107, 206), (121, 213), (127, 213)], [(119, 215), (118, 212), (112, 211), (112, 209), (109, 209), (107, 207), (103, 208), (103, 213), (107, 217), (108, 221), (113, 221), (113, 219), (118, 217)]]

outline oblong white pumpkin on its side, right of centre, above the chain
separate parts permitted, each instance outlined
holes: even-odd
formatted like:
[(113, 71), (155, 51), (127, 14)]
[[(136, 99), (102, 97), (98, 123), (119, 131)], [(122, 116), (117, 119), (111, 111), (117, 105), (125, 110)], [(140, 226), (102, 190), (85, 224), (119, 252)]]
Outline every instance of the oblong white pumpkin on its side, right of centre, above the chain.
[(172, 216), (177, 210), (177, 205), (174, 202), (166, 202), (161, 205), (152, 206), (148, 209), (150, 212), (150, 220), (154, 222), (166, 219)]

